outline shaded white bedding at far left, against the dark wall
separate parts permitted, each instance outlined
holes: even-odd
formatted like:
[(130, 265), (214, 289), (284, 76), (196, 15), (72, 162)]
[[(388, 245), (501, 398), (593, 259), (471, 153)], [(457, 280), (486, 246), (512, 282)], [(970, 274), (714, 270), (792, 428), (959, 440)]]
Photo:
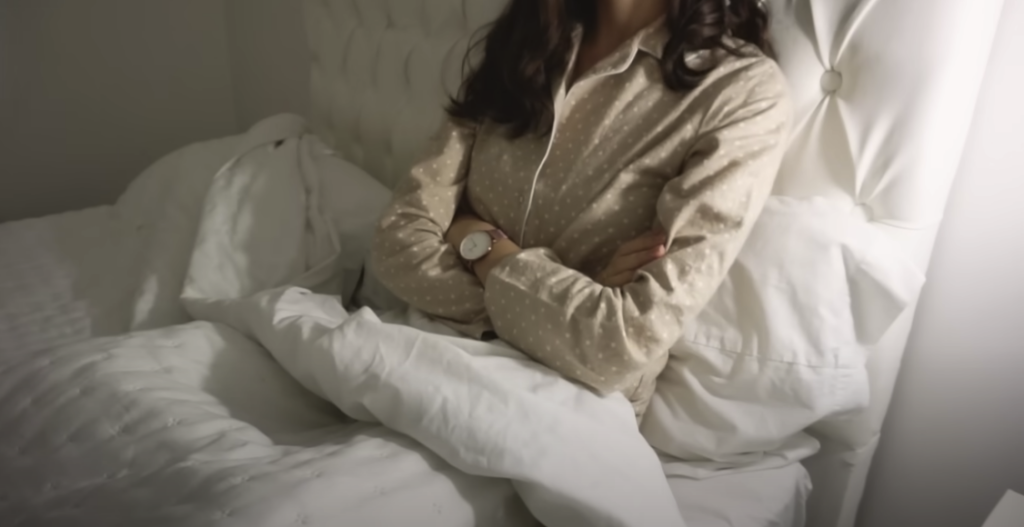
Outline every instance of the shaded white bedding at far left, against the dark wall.
[(177, 297), (207, 188), (282, 129), (264, 124), (165, 156), (115, 205), (0, 224), (0, 353), (188, 321)]

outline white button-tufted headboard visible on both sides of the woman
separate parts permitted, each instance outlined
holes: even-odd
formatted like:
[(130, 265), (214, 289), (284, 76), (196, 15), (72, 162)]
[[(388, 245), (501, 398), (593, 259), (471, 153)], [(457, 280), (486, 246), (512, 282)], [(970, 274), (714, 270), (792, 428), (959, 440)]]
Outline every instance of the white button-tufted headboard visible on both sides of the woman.
[[(392, 185), (438, 125), (474, 30), (506, 0), (305, 0), (311, 119)], [(775, 192), (824, 195), (924, 273), (1002, 0), (769, 0), (798, 126)], [(850, 527), (913, 309), (869, 352), (871, 405), (819, 423), (810, 527)]]

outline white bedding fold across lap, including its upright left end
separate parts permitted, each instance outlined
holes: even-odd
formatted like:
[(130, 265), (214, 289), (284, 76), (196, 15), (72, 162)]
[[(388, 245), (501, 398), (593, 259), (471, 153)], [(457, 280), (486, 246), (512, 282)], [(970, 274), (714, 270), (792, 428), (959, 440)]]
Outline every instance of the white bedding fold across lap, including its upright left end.
[[(657, 456), (621, 395), (599, 397), (504, 345), (349, 315), (332, 279), (339, 246), (322, 148), (303, 135), (214, 178), (182, 302), (257, 340), (306, 388), (473, 475), (513, 482), (549, 527), (681, 526)], [(310, 172), (313, 171), (313, 172)]]

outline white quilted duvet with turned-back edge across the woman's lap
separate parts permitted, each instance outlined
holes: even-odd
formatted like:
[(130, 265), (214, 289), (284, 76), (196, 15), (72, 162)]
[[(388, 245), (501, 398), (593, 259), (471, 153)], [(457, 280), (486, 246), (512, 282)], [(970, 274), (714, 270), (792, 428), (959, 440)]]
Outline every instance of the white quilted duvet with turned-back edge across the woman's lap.
[(5, 524), (682, 525), (622, 396), (310, 291), (342, 248), (289, 130), (213, 180), (200, 321), (0, 358)]

